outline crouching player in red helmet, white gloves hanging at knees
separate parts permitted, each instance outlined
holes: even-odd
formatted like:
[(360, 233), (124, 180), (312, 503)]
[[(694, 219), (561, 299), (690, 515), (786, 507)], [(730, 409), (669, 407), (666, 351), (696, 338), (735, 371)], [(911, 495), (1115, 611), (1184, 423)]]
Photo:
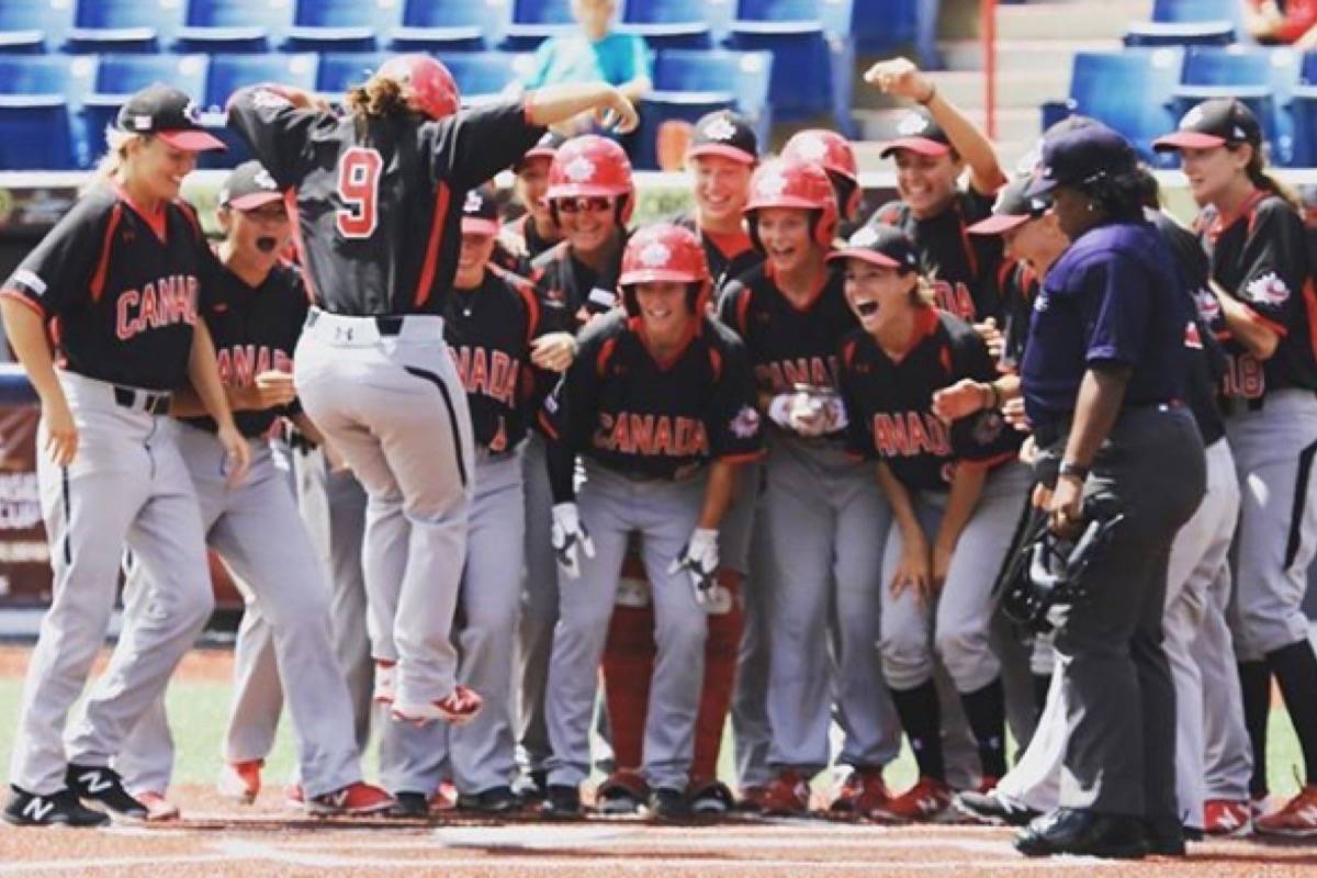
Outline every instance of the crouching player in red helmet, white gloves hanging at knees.
[[(687, 813), (718, 529), (738, 463), (760, 453), (761, 423), (744, 349), (706, 316), (709, 266), (694, 233), (669, 224), (641, 229), (627, 244), (618, 280), (624, 311), (585, 329), (541, 415), (552, 438), (553, 546), (562, 574), (544, 813), (581, 810), (595, 669), (628, 536), (639, 533), (658, 645), (644, 779), (651, 812), (680, 817)], [(586, 479), (574, 496), (578, 450)]]

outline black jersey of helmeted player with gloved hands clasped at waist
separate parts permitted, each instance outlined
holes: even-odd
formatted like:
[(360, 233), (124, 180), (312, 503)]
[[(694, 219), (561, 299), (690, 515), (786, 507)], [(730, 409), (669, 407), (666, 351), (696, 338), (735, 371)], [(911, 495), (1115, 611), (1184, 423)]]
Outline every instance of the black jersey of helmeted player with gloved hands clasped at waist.
[(859, 326), (842, 283), (840, 269), (830, 266), (805, 308), (782, 295), (768, 263), (723, 288), (719, 319), (745, 341), (760, 392), (785, 394), (798, 384), (836, 388), (838, 346)]

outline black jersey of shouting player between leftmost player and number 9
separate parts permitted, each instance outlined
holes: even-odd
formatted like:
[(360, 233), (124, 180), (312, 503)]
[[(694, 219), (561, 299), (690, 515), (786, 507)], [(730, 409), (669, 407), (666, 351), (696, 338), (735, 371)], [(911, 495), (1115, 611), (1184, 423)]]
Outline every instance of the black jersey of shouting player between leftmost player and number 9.
[[(215, 341), (220, 383), (252, 387), (261, 373), (291, 373), (292, 350), (307, 321), (307, 288), (298, 269), (277, 265), (259, 287), (250, 287), (211, 255), (202, 271), (202, 315)], [(242, 436), (253, 437), (269, 430), (277, 417), (299, 411), (294, 401), (258, 412), (233, 412), (233, 421)], [(183, 420), (212, 433), (217, 430), (209, 417)]]

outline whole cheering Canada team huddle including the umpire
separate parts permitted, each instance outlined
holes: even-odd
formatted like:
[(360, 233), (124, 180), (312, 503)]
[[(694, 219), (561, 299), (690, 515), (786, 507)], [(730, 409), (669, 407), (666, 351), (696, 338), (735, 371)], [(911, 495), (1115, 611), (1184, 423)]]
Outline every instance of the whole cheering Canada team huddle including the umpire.
[[(220, 142), (182, 92), (134, 95), (0, 294), (55, 581), (4, 819), (178, 816), (163, 691), (208, 548), (246, 604), (241, 802), (286, 702), (286, 794), (320, 815), (574, 817), (598, 770), (603, 813), (792, 816), (835, 766), (831, 812), (1027, 824), (1029, 854), (1317, 836), (1317, 266), (1256, 120), (1209, 100), (1158, 141), (1188, 230), (1098, 122), (1011, 178), (913, 65), (865, 80), (917, 104), (872, 217), (846, 138), (766, 158), (723, 111), (694, 207), (639, 228), (612, 87), (460, 109), (406, 55), (340, 111), (242, 88), (257, 161), (213, 249), (178, 187)], [(1104, 504), (1084, 602), (1009, 619), (1031, 523), (1077, 544)], [(1308, 777), (1267, 810), (1272, 679)], [(889, 790), (902, 735), (918, 781)]]

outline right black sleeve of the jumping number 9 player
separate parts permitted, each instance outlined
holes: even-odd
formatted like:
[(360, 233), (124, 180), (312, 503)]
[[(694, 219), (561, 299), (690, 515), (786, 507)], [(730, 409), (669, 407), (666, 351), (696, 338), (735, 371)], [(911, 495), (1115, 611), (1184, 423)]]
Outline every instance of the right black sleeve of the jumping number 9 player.
[(464, 191), (525, 155), (544, 130), (527, 120), (520, 99), (483, 104), (420, 128), (432, 178)]

